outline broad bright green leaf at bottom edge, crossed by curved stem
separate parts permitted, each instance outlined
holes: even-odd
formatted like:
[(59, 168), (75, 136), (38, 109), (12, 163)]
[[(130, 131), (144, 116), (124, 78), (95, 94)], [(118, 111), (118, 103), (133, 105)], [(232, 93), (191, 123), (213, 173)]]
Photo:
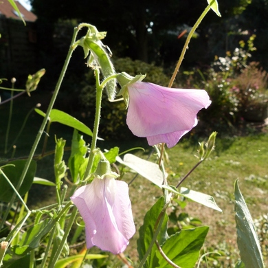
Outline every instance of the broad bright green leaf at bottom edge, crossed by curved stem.
[[(183, 268), (192, 268), (197, 263), (199, 251), (208, 234), (209, 227), (201, 226), (194, 229), (181, 230), (170, 236), (161, 249), (173, 263)], [(164, 260), (157, 250), (156, 256), (159, 259), (159, 268), (168, 268), (170, 265)]]

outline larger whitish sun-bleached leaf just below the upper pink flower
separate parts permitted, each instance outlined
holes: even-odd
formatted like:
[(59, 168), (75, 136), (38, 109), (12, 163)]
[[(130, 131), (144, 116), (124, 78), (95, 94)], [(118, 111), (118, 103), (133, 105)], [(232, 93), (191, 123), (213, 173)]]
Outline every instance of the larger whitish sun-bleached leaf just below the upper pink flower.
[(142, 175), (142, 177), (155, 183), (155, 185), (159, 186), (160, 188), (162, 187), (163, 173), (157, 164), (136, 157), (130, 153), (124, 155), (124, 161), (120, 157), (116, 157), (116, 160), (120, 164), (135, 170), (135, 172), (139, 173), (139, 175)]

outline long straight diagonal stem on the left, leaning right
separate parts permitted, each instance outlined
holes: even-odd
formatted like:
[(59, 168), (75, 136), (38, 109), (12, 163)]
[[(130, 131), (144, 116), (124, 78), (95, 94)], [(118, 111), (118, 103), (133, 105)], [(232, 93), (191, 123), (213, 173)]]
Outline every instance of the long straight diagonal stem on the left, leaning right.
[[(58, 78), (58, 82), (57, 82), (55, 91), (53, 93), (52, 99), (50, 100), (49, 107), (47, 108), (47, 113), (45, 114), (45, 118), (44, 118), (44, 120), (43, 120), (43, 122), (41, 124), (41, 127), (40, 127), (40, 129), (38, 131), (38, 134), (36, 135), (36, 139), (34, 140), (32, 150), (30, 151), (29, 157), (27, 158), (27, 161), (25, 163), (25, 166), (24, 166), (23, 172), (21, 174), (21, 177), (19, 179), (19, 182), (16, 185), (16, 190), (19, 190), (19, 188), (21, 187), (21, 184), (23, 183), (23, 179), (25, 178), (27, 170), (30, 167), (30, 164), (31, 164), (32, 158), (34, 157), (34, 153), (36, 151), (37, 145), (38, 145), (38, 143), (39, 143), (39, 141), (41, 139), (41, 136), (42, 136), (42, 134), (43, 134), (43, 132), (45, 130), (45, 125), (47, 124), (47, 120), (49, 118), (50, 112), (52, 111), (52, 107), (53, 107), (54, 102), (56, 101), (56, 98), (58, 96), (58, 91), (60, 90), (60, 85), (63, 82), (65, 72), (66, 72), (67, 67), (69, 65), (69, 61), (71, 59), (71, 54), (73, 54), (74, 49), (76, 49), (76, 47), (77, 47), (77, 45), (74, 45), (74, 41), (76, 40), (77, 33), (78, 33), (78, 27), (75, 27), (74, 28), (74, 34), (73, 34), (73, 37), (72, 37), (72, 40), (71, 40), (71, 45), (69, 47), (69, 52), (68, 52), (67, 57), (65, 59), (65, 63), (63, 65), (63, 69), (62, 69), (62, 71), (60, 73), (60, 77)], [(0, 223), (0, 230), (3, 227), (3, 224), (5, 223), (5, 220), (8, 218), (8, 214), (9, 214), (10, 209), (11, 209), (13, 203), (14, 203), (15, 198), (16, 198), (16, 193), (14, 192), (14, 194), (12, 195), (12, 198), (10, 200), (10, 203), (8, 204), (8, 208), (5, 211), (5, 214), (3, 215), (3, 219), (2, 219), (2, 221)]]

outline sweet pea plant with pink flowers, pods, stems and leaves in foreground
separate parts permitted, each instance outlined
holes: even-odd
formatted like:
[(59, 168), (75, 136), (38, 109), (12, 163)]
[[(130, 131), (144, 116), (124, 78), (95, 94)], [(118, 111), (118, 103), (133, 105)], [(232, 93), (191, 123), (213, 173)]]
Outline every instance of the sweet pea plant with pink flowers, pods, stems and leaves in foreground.
[[(133, 172), (142, 175), (160, 188), (163, 193), (148, 210), (144, 216), (143, 225), (139, 227), (139, 238), (137, 239), (139, 263), (137, 267), (190, 268), (196, 265), (205, 236), (208, 234), (208, 226), (192, 227), (168, 234), (167, 210), (172, 202), (179, 203), (180, 199), (190, 199), (221, 212), (221, 208), (216, 205), (214, 198), (210, 195), (181, 187), (181, 183), (190, 175), (190, 172), (210, 156), (214, 149), (216, 133), (210, 135), (208, 142), (199, 144), (197, 165), (174, 186), (170, 185), (168, 181), (164, 155), (165, 144), (168, 148), (175, 146), (183, 135), (197, 125), (197, 113), (210, 106), (208, 93), (202, 89), (171, 88), (190, 38), (201, 19), (211, 8), (216, 14), (219, 14), (217, 2), (213, 0), (208, 3), (208, 7), (205, 8), (188, 36), (168, 87), (142, 82), (145, 74), (129, 76), (124, 72), (116, 73), (110, 59), (109, 48), (102, 43), (106, 33), (98, 32), (96, 27), (88, 23), (81, 23), (74, 29), (67, 59), (49, 107), (46, 113), (35, 109), (36, 113), (43, 116), (43, 123), (27, 160), (4, 161), (5, 164), (0, 168), (0, 200), (6, 203), (0, 222), (0, 231), (3, 234), (0, 247), (0, 266), (58, 268), (71, 265), (71, 267), (87, 267), (85, 264), (87, 260), (107, 257), (104, 254), (89, 252), (92, 247), (96, 246), (104, 252), (118, 254), (128, 267), (132, 267), (130, 261), (122, 253), (135, 234), (135, 217), (133, 219), (129, 186), (122, 181), (120, 175), (124, 171), (120, 172), (118, 165), (130, 168)], [(87, 33), (77, 40), (78, 32), (84, 27), (87, 29)], [(53, 109), (69, 60), (77, 47), (82, 47), (85, 58), (87, 58), (87, 65), (94, 70), (96, 78), (96, 115), (93, 131), (67, 113)], [(30, 93), (35, 90), (43, 74), (44, 71), (39, 71), (35, 76), (30, 76), (27, 87), (22, 92)], [(104, 77), (102, 81), (100, 74)], [(118, 93), (116, 91), (117, 82), (121, 87)], [(124, 157), (121, 157), (122, 154), (119, 153), (118, 147), (110, 150), (98, 148), (97, 142), (98, 139), (101, 139), (98, 134), (104, 89), (111, 102), (117, 97), (123, 97), (128, 109), (126, 122), (129, 129), (134, 135), (147, 138), (148, 144), (155, 149), (158, 164), (130, 153), (124, 153)], [(46, 156), (48, 135), (45, 135), (41, 155), (36, 157), (34, 154), (41, 136), (43, 133), (49, 132), (53, 122), (71, 126), (74, 128), (74, 135), (67, 164), (63, 159), (66, 141), (56, 138), (55, 179), (48, 181), (35, 177), (35, 159)], [(45, 126), (47, 126), (46, 131)], [(78, 131), (91, 137), (90, 146), (86, 144)], [(158, 146), (158, 144), (160, 145)], [(111, 166), (114, 167), (114, 170)], [(67, 183), (63, 183), (63, 179)], [(27, 206), (27, 192), (32, 183), (54, 187), (56, 203), (45, 208), (31, 210)], [(68, 186), (69, 190), (67, 190)], [(247, 213), (237, 183), (236, 196), (238, 230), (254, 236), (252, 228), (247, 228), (247, 224), (245, 224), (245, 222), (251, 224), (252, 219)], [(12, 218), (10, 223), (10, 215), (16, 214), (13, 211), (13, 205), (17, 200), (21, 202), (21, 205), (18, 203), (19, 216)], [(27, 225), (30, 219), (33, 219), (34, 224)], [(5, 228), (5, 225), (8, 224), (12, 225), (10, 230)], [(67, 238), (71, 234), (72, 228), (74, 228), (74, 238), (69, 241)], [(80, 237), (83, 230), (85, 230), (87, 249), (84, 247), (79, 254), (71, 254), (69, 245), (77, 242), (77, 238)], [(241, 234), (238, 236), (241, 238), (239, 240), (247, 238)], [(250, 263), (257, 258), (258, 263), (261, 264), (262, 259), (258, 255), (260, 252), (256, 250), (258, 241), (256, 238), (251, 241), (254, 242), (252, 246), (254, 250), (252, 252), (249, 250)], [(244, 241), (239, 244), (241, 256), (247, 255), (243, 249), (244, 245)]]

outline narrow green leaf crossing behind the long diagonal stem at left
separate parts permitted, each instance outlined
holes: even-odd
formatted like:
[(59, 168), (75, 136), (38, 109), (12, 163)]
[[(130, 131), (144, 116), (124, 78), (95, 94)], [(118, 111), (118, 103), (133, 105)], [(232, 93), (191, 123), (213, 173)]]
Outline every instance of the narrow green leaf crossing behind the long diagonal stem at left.
[[(39, 115), (45, 117), (45, 113), (43, 113), (41, 110), (34, 109), (34, 111), (36, 111), (36, 113)], [(65, 124), (66, 126), (71, 126), (72, 128), (77, 129), (82, 133), (92, 136), (92, 131), (89, 129), (89, 127), (87, 127), (84, 123), (80, 122), (76, 118), (73, 118), (71, 115), (68, 115), (68, 113), (59, 111), (57, 109), (52, 109), (49, 118), (51, 122), (58, 122), (60, 124)]]

